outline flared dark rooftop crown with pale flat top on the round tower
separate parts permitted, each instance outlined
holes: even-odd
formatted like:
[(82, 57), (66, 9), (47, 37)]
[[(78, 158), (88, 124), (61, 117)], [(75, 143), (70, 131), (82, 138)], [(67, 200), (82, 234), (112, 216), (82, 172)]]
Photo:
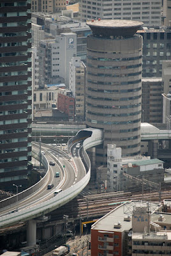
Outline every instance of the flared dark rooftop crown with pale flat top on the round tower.
[(86, 24), (96, 36), (133, 36), (143, 22), (137, 20), (91, 20)]

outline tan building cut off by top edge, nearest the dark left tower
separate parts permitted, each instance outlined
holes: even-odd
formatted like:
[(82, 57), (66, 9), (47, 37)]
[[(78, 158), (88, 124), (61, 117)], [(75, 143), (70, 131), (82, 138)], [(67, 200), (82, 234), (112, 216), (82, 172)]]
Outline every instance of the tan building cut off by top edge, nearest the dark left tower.
[(32, 0), (32, 12), (47, 12), (55, 13), (61, 10), (66, 10), (65, 0)]

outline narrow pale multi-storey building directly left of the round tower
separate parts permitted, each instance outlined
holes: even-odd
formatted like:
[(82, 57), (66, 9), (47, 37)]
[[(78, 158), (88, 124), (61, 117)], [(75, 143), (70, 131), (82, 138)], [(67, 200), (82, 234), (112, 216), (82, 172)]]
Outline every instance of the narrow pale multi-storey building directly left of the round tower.
[(75, 98), (75, 121), (85, 120), (85, 75), (86, 67), (79, 57), (70, 62), (70, 90)]

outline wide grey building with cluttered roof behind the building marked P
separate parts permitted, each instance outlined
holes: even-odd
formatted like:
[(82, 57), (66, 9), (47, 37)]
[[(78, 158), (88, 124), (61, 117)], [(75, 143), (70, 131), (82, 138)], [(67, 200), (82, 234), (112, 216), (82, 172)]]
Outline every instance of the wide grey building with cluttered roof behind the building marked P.
[(53, 18), (53, 15), (47, 13), (33, 13), (32, 22), (34, 46), (37, 47), (40, 40), (56, 38), (60, 33), (75, 33), (77, 35), (77, 57), (86, 63), (87, 35), (91, 33), (91, 29), (85, 22), (64, 16)]

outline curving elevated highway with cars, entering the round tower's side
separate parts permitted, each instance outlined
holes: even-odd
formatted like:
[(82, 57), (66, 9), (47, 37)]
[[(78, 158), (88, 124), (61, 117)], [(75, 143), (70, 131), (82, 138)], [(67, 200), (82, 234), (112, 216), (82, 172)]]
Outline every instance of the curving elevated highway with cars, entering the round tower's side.
[[(90, 138), (91, 137), (91, 138)], [(73, 156), (73, 147), (80, 141), (81, 147), (77, 150), (77, 156)], [(20, 221), (28, 221), (28, 245), (36, 243), (36, 219), (45, 216), (50, 211), (54, 211), (66, 204), (77, 196), (82, 189), (87, 186), (91, 176), (91, 163), (87, 156), (86, 149), (103, 143), (103, 133), (98, 129), (85, 129), (78, 132), (77, 136), (71, 138), (68, 141), (69, 154), (64, 153), (64, 156), (57, 156), (56, 152), (50, 146), (41, 145), (43, 150), (46, 152), (45, 155), (41, 154), (33, 147), (33, 156), (40, 160), (47, 169), (46, 175), (33, 187), (26, 189), (18, 195), (7, 198), (0, 202), (0, 227), (7, 227)], [(44, 195), (47, 190), (47, 184), (50, 179), (50, 172), (52, 176), (54, 172), (48, 163), (48, 154), (52, 154), (52, 159), (56, 160), (59, 168), (63, 171), (63, 179), (60, 183), (56, 184), (56, 188), (61, 188), (63, 191), (58, 195), (54, 196), (54, 189), (47, 195)], [(80, 157), (80, 154), (82, 158)], [(84, 159), (84, 161), (82, 161)], [(66, 172), (64, 172), (66, 170)], [(70, 177), (66, 182), (66, 176), (70, 173)], [(43, 192), (42, 189), (44, 188)], [(50, 189), (51, 190), (51, 189)], [(13, 208), (18, 211), (13, 212)], [(11, 212), (11, 213), (10, 213)], [(43, 219), (42, 219), (43, 220)]]

